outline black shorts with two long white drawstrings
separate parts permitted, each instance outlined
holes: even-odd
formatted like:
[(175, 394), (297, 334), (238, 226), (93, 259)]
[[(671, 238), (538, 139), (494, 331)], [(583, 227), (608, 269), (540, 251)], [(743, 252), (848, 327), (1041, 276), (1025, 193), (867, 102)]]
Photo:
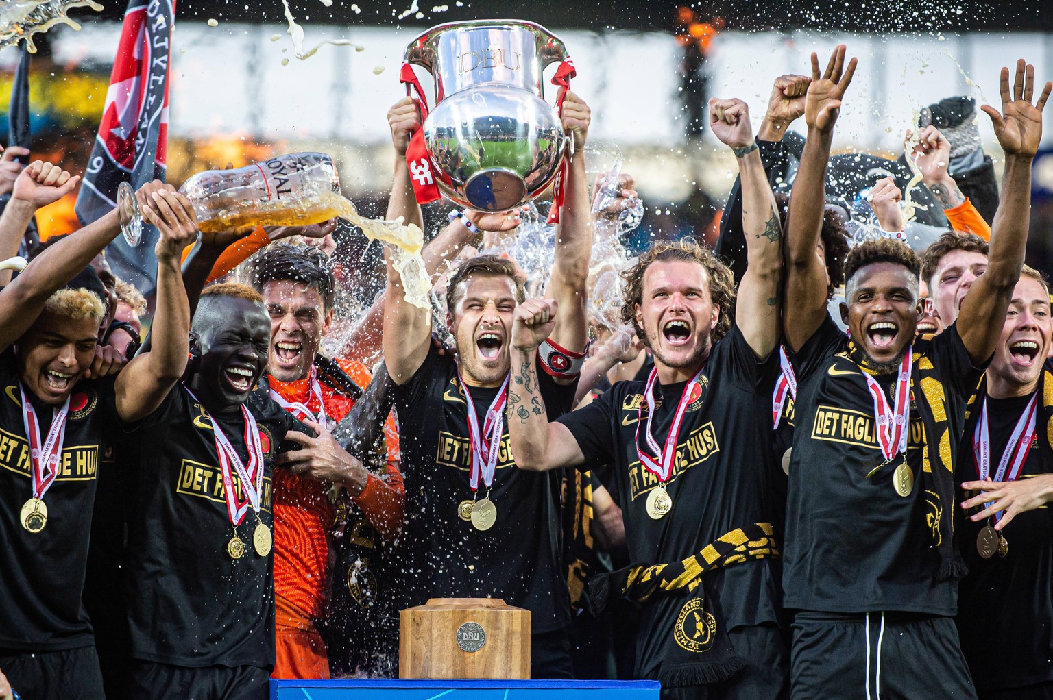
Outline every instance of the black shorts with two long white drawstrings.
[(791, 656), (794, 700), (976, 698), (951, 618), (799, 612)]

